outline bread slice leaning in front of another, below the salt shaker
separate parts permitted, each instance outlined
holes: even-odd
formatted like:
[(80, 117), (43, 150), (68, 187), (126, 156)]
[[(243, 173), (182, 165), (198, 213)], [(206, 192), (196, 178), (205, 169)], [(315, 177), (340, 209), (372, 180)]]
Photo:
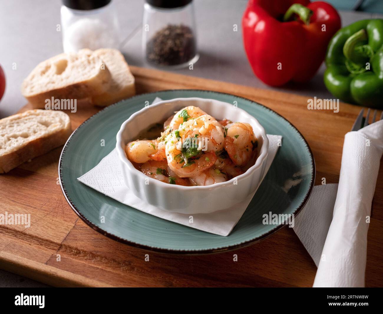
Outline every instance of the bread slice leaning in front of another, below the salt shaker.
[(34, 108), (45, 100), (83, 99), (109, 89), (111, 74), (93, 54), (62, 53), (36, 66), (21, 85), (21, 93)]

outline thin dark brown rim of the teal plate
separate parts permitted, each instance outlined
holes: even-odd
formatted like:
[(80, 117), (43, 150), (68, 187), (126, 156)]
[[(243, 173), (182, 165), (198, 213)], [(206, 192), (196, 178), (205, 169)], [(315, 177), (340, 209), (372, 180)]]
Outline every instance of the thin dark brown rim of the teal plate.
[(81, 218), (81, 220), (83, 222), (85, 222), (85, 224), (87, 224), (89, 227), (91, 227), (92, 229), (96, 230), (97, 232), (105, 235), (106, 237), (108, 238), (111, 238), (117, 242), (120, 242), (120, 243), (124, 243), (124, 244), (127, 244), (127, 245), (130, 245), (131, 247), (136, 247), (136, 248), (140, 248), (140, 249), (143, 249), (143, 250), (147, 250), (147, 251), (151, 251), (151, 252), (158, 252), (158, 253), (168, 253), (168, 254), (178, 254), (178, 255), (201, 255), (201, 254), (213, 254), (213, 253), (220, 253), (220, 252), (228, 252), (228, 251), (232, 251), (232, 250), (236, 250), (238, 248), (244, 248), (244, 247), (248, 247), (249, 245), (252, 245), (256, 242), (259, 242), (260, 240), (264, 240), (265, 238), (267, 237), (270, 237), (270, 235), (274, 234), (275, 232), (277, 232), (278, 230), (280, 230), (281, 228), (283, 228), (285, 225), (277, 225), (274, 229), (270, 230), (269, 232), (266, 232), (264, 233), (263, 235), (260, 235), (259, 237), (256, 237), (252, 240), (248, 240), (248, 241), (245, 241), (245, 242), (242, 242), (242, 243), (239, 243), (239, 244), (235, 244), (235, 245), (229, 245), (227, 247), (220, 247), (220, 248), (212, 248), (212, 249), (207, 249), (207, 250), (172, 250), (172, 249), (165, 249), (165, 248), (158, 248), (158, 247), (151, 247), (150, 245), (143, 245), (143, 244), (139, 244), (139, 243), (136, 243), (136, 242), (133, 242), (133, 241), (129, 241), (129, 240), (126, 240), (124, 238), (120, 238), (112, 233), (109, 233), (109, 232), (106, 232), (105, 230), (101, 229), (100, 227), (98, 227), (97, 225), (93, 224), (93, 222), (91, 222), (90, 220), (87, 219), (87, 217), (85, 217), (80, 211), (79, 209), (77, 209), (77, 207), (72, 203), (72, 201), (70, 200), (70, 197), (69, 195), (67, 194), (67, 191), (65, 189), (65, 186), (64, 184), (62, 183), (61, 181), (61, 161), (62, 161), (62, 158), (63, 156), (65, 155), (65, 150), (66, 150), (66, 147), (68, 145), (68, 143), (70, 142), (70, 139), (72, 138), (72, 136), (83, 126), (85, 125), (85, 123), (87, 123), (90, 119), (94, 118), (95, 116), (99, 115), (100, 113), (104, 112), (105, 110), (109, 110), (111, 107), (114, 107), (118, 104), (120, 104), (121, 102), (125, 102), (126, 100), (129, 100), (129, 99), (134, 99), (136, 97), (141, 97), (142, 95), (149, 95), (149, 94), (156, 94), (158, 92), (179, 92), (179, 91), (195, 91), (195, 92), (203, 92), (203, 93), (217, 93), (217, 94), (223, 94), (223, 95), (229, 95), (229, 96), (235, 96), (235, 97), (238, 97), (238, 98), (241, 98), (241, 99), (244, 99), (244, 100), (247, 100), (247, 101), (250, 101), (250, 102), (253, 102), (257, 105), (260, 105), (262, 107), (264, 107), (265, 109), (267, 110), (270, 110), (271, 112), (275, 113), (277, 116), (279, 116), (280, 118), (282, 118), (283, 120), (285, 120), (288, 124), (290, 124), (290, 126), (292, 128), (294, 128), (296, 130), (296, 132), (298, 132), (298, 134), (301, 136), (301, 138), (303, 139), (304, 143), (306, 144), (307, 148), (308, 148), (308, 152), (309, 152), (309, 155), (310, 155), (310, 158), (311, 158), (311, 162), (313, 164), (313, 175), (311, 176), (311, 182), (310, 182), (310, 185), (309, 185), (309, 189), (308, 191), (306, 192), (306, 196), (304, 197), (303, 201), (301, 202), (301, 204), (298, 206), (298, 208), (295, 210), (295, 212), (293, 212), (292, 214), (294, 214), (295, 216), (303, 209), (304, 205), (306, 205), (310, 195), (311, 195), (311, 192), (313, 191), (313, 188), (314, 188), (314, 182), (315, 182), (315, 176), (316, 176), (316, 168), (315, 168), (315, 160), (314, 160), (314, 155), (313, 155), (313, 152), (311, 151), (311, 148), (309, 146), (309, 144), (307, 143), (306, 139), (304, 138), (304, 136), (302, 135), (302, 133), (290, 122), (288, 121), (286, 118), (282, 117), (282, 115), (280, 115), (279, 113), (275, 112), (274, 110), (266, 107), (265, 105), (262, 105), (262, 104), (259, 104), (258, 102), (255, 102), (253, 100), (250, 100), (248, 98), (245, 98), (245, 97), (242, 97), (242, 96), (238, 96), (238, 95), (235, 95), (235, 94), (229, 94), (229, 93), (224, 93), (224, 92), (216, 92), (214, 90), (204, 90), (204, 89), (165, 89), (165, 90), (157, 90), (155, 92), (148, 92), (148, 93), (143, 93), (143, 94), (139, 94), (139, 95), (134, 95), (133, 97), (129, 97), (127, 99), (123, 99), (123, 100), (120, 100), (119, 102), (116, 102), (115, 104), (112, 104), (112, 105), (109, 105), (108, 107), (105, 107), (104, 109), (100, 110), (99, 112), (95, 113), (94, 115), (92, 115), (91, 117), (89, 117), (87, 120), (85, 120), (83, 123), (81, 123), (79, 125), (79, 127), (77, 127), (73, 132), (72, 134), (69, 136), (68, 140), (66, 141), (64, 147), (62, 148), (62, 151), (61, 151), (61, 155), (60, 155), (60, 159), (59, 159), (59, 166), (58, 166), (58, 172), (59, 172), (59, 182), (60, 182), (60, 186), (61, 186), (61, 190), (62, 190), (62, 193), (64, 194), (64, 197), (65, 199), (67, 200), (68, 204), (70, 205), (70, 207), (72, 207), (72, 209), (74, 210), (74, 212)]

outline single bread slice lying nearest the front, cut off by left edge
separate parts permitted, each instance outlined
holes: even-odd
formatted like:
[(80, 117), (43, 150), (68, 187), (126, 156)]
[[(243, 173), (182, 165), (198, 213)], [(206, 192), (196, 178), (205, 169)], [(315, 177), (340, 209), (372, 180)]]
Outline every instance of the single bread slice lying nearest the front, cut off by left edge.
[(69, 116), (55, 110), (28, 110), (0, 120), (0, 173), (63, 145)]

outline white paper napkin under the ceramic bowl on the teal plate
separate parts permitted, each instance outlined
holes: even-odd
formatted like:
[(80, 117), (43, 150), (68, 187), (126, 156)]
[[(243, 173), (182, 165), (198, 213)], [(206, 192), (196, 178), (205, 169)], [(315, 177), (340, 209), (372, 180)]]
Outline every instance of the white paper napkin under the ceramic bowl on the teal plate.
[[(157, 97), (153, 103), (160, 101)], [(269, 140), (268, 158), (265, 169), (264, 179), (270, 165), (278, 151), (278, 141), (282, 140), (279, 135), (267, 135)], [(177, 222), (191, 228), (203, 230), (206, 232), (227, 236), (237, 224), (247, 206), (252, 200), (255, 192), (241, 203), (232, 208), (213, 212), (211, 214), (193, 214), (193, 223), (190, 223), (187, 214), (171, 213), (158, 209), (145, 201), (136, 197), (124, 184), (123, 176), (119, 170), (115, 149), (105, 156), (97, 166), (77, 178), (83, 184), (92, 187), (98, 192), (105, 194), (123, 204), (134, 207), (147, 214), (160, 217), (162, 219)], [(262, 182), (261, 180), (261, 182)]]

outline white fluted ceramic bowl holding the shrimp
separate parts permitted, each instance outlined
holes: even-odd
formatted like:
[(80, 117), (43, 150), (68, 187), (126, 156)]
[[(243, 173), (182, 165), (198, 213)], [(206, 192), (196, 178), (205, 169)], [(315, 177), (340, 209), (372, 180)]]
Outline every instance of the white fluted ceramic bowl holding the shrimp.
[[(153, 123), (163, 122), (186, 106), (200, 107), (217, 120), (227, 118), (247, 122), (258, 139), (258, 158), (255, 164), (235, 179), (210, 186), (180, 186), (147, 177), (134, 168), (125, 154), (125, 145)], [(149, 105), (126, 120), (117, 133), (116, 151), (125, 184), (149, 204), (169, 212), (183, 214), (211, 213), (229, 208), (252, 194), (265, 172), (268, 156), (268, 139), (259, 122), (246, 111), (226, 102), (203, 98), (176, 98)], [(235, 184), (237, 183), (237, 184)]]

